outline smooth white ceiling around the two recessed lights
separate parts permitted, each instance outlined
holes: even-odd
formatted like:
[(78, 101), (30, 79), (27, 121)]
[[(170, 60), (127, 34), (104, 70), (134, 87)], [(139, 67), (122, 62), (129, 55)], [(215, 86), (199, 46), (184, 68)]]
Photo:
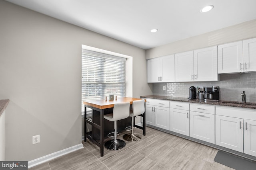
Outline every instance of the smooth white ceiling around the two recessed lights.
[[(142, 49), (256, 19), (256, 0), (6, 1)], [(201, 13), (206, 5), (213, 10)]]

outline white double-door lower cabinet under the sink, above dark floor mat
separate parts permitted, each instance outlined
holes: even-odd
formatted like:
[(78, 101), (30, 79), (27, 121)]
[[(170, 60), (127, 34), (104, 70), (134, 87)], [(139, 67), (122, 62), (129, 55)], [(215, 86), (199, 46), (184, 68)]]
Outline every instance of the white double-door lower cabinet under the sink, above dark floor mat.
[(216, 145), (256, 156), (255, 109), (216, 106)]

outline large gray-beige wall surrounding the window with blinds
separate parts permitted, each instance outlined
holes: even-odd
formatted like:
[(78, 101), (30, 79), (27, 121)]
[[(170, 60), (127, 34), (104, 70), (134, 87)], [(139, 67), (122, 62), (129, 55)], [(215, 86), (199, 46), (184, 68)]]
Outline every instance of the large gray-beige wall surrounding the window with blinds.
[[(133, 57), (133, 97), (150, 95), (145, 50), (0, 0), (0, 99), (6, 160), (81, 143), (81, 45)], [(40, 143), (32, 145), (32, 136)]]

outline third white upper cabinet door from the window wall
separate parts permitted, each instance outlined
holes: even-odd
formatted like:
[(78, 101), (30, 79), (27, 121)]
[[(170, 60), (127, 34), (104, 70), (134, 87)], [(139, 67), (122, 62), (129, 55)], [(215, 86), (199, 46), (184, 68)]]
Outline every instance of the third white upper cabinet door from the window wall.
[(193, 51), (175, 54), (175, 81), (194, 81)]

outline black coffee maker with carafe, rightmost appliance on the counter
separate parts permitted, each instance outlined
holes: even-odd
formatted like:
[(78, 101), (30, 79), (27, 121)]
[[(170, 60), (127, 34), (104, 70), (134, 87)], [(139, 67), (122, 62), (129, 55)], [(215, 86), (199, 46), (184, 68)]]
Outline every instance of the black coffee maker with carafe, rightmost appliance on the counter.
[(220, 101), (220, 87), (219, 86), (205, 87), (204, 88), (204, 101), (219, 102)]

